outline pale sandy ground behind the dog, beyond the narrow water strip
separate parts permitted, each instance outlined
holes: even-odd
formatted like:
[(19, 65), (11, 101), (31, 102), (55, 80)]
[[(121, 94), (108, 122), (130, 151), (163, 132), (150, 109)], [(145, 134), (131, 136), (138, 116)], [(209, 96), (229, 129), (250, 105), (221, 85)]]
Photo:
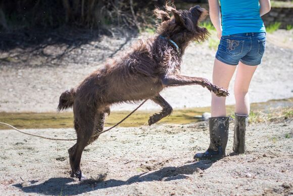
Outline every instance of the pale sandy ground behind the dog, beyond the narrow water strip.
[[(252, 102), (293, 97), (293, 30), (277, 32), (268, 36), (262, 65), (257, 69), (251, 83)], [(59, 61), (59, 66), (38, 66), (38, 59), (31, 59), (35, 66), (11, 63), (0, 65), (0, 111), (56, 111), (60, 94), (81, 82), (86, 75), (105, 64), (109, 56), (118, 57), (131, 43), (140, 37), (110, 38), (104, 36), (99, 42), (91, 42), (73, 50)], [(121, 48), (121, 50), (120, 50)], [(60, 48), (47, 47), (46, 54), (56, 54)], [(60, 52), (60, 51), (59, 51)], [(117, 53), (116, 53), (117, 52)], [(191, 44), (182, 63), (182, 74), (206, 77), (211, 80), (215, 50), (206, 44)], [(234, 104), (233, 81), (227, 104)], [(209, 106), (211, 96), (200, 86), (173, 87), (162, 96), (174, 107)], [(112, 110), (130, 110), (135, 105), (116, 105)], [(141, 109), (159, 109), (148, 101)]]

